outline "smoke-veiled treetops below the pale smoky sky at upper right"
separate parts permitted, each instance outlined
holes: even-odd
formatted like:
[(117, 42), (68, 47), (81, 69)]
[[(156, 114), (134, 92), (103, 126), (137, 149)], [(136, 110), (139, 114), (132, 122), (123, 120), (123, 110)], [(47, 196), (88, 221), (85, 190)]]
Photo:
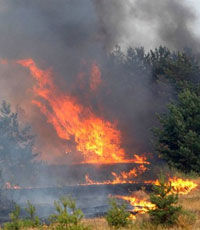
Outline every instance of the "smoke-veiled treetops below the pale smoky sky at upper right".
[[(111, 60), (112, 64), (123, 69), (127, 76), (145, 75), (152, 83), (169, 80), (177, 89), (183, 89), (188, 84), (196, 84), (200, 80), (199, 60), (190, 49), (172, 51), (160, 46), (145, 52), (143, 47), (129, 47), (127, 53), (123, 53), (117, 46)], [(132, 80), (134, 81), (134, 78)]]

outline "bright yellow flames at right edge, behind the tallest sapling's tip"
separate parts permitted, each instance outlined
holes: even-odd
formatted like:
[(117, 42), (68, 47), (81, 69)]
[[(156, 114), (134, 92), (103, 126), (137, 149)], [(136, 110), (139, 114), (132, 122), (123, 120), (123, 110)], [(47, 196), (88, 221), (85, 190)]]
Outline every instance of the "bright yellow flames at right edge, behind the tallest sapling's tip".
[[(169, 178), (169, 183), (171, 183), (172, 192), (182, 195), (186, 195), (197, 187), (197, 184), (191, 180), (183, 180), (181, 178)], [(156, 180), (154, 184), (159, 185), (159, 181)]]

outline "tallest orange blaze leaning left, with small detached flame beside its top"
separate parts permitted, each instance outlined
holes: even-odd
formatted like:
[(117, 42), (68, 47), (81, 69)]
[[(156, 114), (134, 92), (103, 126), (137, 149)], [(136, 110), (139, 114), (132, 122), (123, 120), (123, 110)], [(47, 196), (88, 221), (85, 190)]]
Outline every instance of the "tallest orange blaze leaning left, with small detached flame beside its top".
[[(126, 153), (121, 148), (121, 133), (116, 124), (97, 117), (90, 108), (80, 105), (75, 97), (62, 93), (54, 85), (51, 71), (39, 69), (32, 59), (17, 63), (28, 68), (37, 81), (33, 92), (43, 101), (34, 100), (33, 103), (47, 117), (60, 138), (75, 140), (76, 149), (83, 156), (81, 163), (148, 163), (145, 157), (136, 154), (133, 159), (126, 159)], [(91, 89), (97, 87), (100, 79), (101, 72), (93, 64)]]

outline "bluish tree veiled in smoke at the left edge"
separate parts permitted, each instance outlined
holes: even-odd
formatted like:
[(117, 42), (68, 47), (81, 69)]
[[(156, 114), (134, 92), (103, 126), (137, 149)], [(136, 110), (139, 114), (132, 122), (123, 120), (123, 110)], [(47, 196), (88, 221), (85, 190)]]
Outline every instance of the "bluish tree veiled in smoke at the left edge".
[(27, 172), (33, 174), (32, 161), (36, 156), (33, 144), (30, 127), (20, 123), (18, 112), (12, 112), (10, 105), (3, 101), (0, 108), (0, 168), (4, 180), (16, 184), (27, 178)]

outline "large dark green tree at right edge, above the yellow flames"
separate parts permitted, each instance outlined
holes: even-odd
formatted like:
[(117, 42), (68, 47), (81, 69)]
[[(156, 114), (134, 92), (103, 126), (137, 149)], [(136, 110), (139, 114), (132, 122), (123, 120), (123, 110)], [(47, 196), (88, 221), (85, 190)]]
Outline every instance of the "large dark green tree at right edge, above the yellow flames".
[(200, 172), (200, 95), (185, 89), (177, 103), (168, 106), (155, 129), (156, 149), (160, 156), (183, 172)]

